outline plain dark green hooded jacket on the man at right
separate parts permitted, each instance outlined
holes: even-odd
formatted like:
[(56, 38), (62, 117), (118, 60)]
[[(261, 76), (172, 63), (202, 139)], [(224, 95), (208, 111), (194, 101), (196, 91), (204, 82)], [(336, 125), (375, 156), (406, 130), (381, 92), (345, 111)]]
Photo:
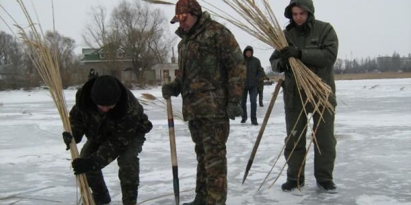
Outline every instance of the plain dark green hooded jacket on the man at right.
[[(298, 26), (292, 20), (291, 8), (299, 6), (309, 13), (307, 22)], [(290, 24), (284, 30), (288, 44), (302, 51), (301, 61), (316, 75), (329, 85), (334, 93), (330, 103), (337, 106), (335, 99), (335, 82), (333, 65), (337, 59), (338, 37), (329, 23), (316, 20), (314, 6), (311, 0), (291, 0), (284, 15), (290, 19)], [(302, 103), (291, 69), (279, 69), (279, 51), (275, 50), (270, 57), (271, 68), (276, 72), (285, 72), (284, 103), (286, 110), (301, 110)]]

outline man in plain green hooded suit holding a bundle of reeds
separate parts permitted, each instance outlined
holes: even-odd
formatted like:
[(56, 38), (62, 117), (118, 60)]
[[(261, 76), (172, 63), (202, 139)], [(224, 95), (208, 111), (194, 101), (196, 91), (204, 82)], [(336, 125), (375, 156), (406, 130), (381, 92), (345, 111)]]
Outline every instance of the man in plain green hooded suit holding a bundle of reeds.
[[(298, 115), (303, 109), (302, 100), (298, 95), (293, 72), (288, 64), (288, 58), (300, 59), (312, 72), (321, 77), (335, 94), (335, 83), (332, 66), (337, 59), (338, 38), (329, 23), (314, 18), (314, 6), (311, 0), (291, 0), (285, 9), (285, 16), (290, 24), (284, 30), (290, 46), (274, 51), (270, 57), (274, 71), (285, 72), (283, 84), (284, 104), (286, 111), (287, 135), (290, 137), (286, 144), (284, 155), (286, 158), (297, 142), (298, 136), (303, 133), (295, 150), (288, 160), (287, 182), (282, 185), (284, 191), (291, 191), (297, 187), (298, 169), (306, 153), (306, 132), (304, 129), (307, 118)], [(333, 106), (337, 106), (335, 95), (329, 97)], [(313, 112), (313, 105), (307, 105), (307, 112)], [(318, 125), (316, 144), (314, 147), (314, 175), (317, 186), (321, 190), (335, 193), (332, 172), (334, 169), (335, 146), (334, 113), (325, 111), (321, 118), (319, 113), (313, 115), (313, 129)], [(294, 125), (295, 128), (294, 128)], [(294, 128), (294, 129), (293, 129)], [(317, 149), (317, 146), (320, 150)], [(320, 154), (321, 151), (321, 154)], [(305, 165), (305, 164), (304, 164)], [(300, 176), (300, 186), (304, 186), (304, 167)]]

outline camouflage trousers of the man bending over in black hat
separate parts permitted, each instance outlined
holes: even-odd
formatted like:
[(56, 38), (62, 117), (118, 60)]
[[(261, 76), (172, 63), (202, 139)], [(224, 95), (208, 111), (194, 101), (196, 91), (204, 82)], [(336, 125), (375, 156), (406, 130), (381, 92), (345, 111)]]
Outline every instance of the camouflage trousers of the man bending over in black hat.
[[(81, 149), (80, 157), (88, 157), (98, 149), (98, 144), (95, 144), (92, 140), (87, 140)], [(122, 201), (125, 205), (137, 203), (138, 186), (140, 183), (139, 152), (141, 152), (141, 144), (134, 140), (117, 158)], [(107, 203), (107, 201), (111, 200), (101, 170), (87, 172), (86, 178), (96, 204)]]

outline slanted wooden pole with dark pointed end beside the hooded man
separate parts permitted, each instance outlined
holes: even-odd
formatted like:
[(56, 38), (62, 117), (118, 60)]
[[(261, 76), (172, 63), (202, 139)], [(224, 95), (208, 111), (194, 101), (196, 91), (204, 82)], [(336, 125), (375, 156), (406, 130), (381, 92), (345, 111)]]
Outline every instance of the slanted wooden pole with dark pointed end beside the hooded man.
[(281, 84), (283, 84), (283, 79), (279, 78), (278, 81), (277, 81), (277, 85), (275, 86), (275, 89), (274, 89), (274, 94), (271, 97), (270, 105), (268, 106), (266, 115), (264, 116), (263, 124), (261, 124), (260, 131), (258, 132), (257, 139), (255, 140), (253, 151), (251, 152), (250, 158), (248, 159), (246, 172), (244, 173), (244, 177), (242, 177), (242, 183), (243, 184), (244, 184), (244, 181), (247, 178), (248, 172), (251, 169), (251, 165), (253, 165), (255, 153), (257, 153), (258, 146), (260, 144), (261, 138), (263, 137), (264, 130), (266, 129), (268, 118), (270, 118), (271, 111), (273, 110), (275, 99), (277, 99), (277, 95), (278, 95), (278, 92), (279, 92), (279, 88), (281, 87)]

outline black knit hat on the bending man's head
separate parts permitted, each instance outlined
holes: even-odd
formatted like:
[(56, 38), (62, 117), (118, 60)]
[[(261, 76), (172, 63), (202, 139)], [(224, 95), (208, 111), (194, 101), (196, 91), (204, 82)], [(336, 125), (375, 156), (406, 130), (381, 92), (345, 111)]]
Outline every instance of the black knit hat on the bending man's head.
[(121, 88), (118, 80), (110, 75), (97, 77), (91, 88), (91, 98), (99, 106), (115, 105), (121, 96)]

